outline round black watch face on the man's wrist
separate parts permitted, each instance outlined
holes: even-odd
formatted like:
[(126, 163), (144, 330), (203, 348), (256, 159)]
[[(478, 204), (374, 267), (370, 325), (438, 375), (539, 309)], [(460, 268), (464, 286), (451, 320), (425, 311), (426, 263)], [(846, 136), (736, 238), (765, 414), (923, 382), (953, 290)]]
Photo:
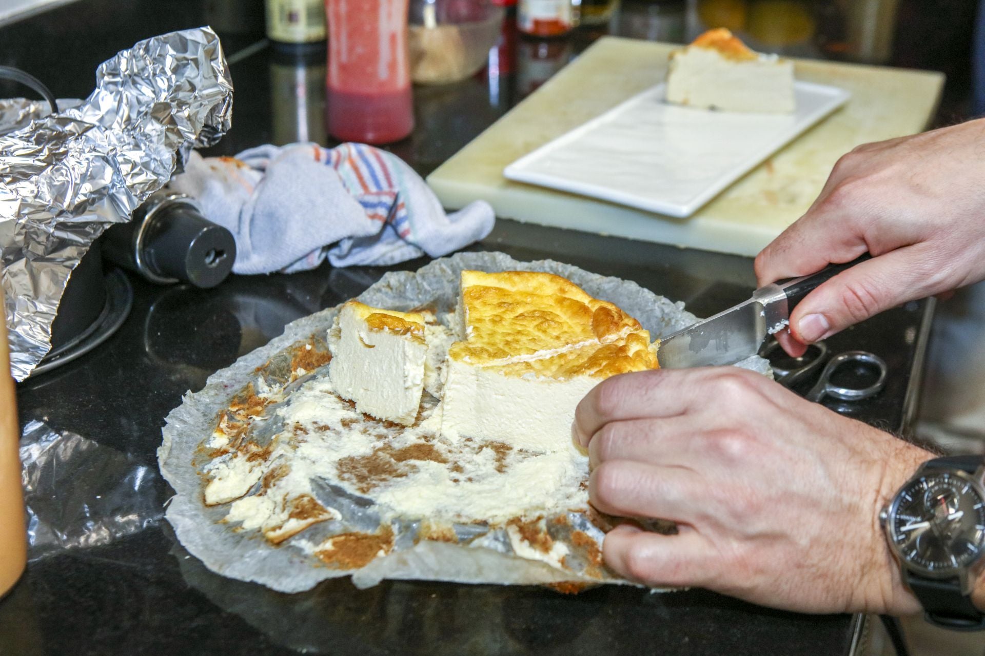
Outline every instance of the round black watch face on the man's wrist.
[(947, 576), (967, 567), (985, 541), (981, 489), (956, 472), (919, 476), (892, 502), (889, 539), (910, 567)]

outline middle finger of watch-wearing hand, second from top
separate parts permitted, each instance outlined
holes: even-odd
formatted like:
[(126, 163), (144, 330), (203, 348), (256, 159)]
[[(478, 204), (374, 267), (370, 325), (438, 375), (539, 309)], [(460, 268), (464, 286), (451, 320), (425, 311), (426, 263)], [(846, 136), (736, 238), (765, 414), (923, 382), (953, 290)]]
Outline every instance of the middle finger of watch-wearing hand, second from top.
[(629, 419), (610, 422), (588, 443), (589, 466), (609, 460), (633, 460), (656, 465), (689, 465), (688, 454), (698, 444), (700, 429), (693, 417)]

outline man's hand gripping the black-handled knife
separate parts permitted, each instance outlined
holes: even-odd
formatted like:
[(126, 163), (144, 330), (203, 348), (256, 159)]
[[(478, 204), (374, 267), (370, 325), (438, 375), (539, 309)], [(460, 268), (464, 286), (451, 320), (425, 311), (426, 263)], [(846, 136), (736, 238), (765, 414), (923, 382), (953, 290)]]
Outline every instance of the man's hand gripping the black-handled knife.
[(756, 277), (763, 285), (806, 275), (866, 251), (873, 260), (825, 282), (794, 310), (790, 331), (799, 342), (985, 278), (985, 119), (841, 157), (811, 209), (755, 259)]

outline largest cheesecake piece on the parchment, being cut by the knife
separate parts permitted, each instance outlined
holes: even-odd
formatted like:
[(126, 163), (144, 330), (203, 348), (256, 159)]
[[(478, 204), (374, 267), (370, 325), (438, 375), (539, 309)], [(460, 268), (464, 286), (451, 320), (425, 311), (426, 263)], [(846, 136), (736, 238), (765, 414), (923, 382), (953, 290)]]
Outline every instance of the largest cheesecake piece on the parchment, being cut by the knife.
[(462, 271), (441, 435), (514, 449), (570, 448), (574, 409), (600, 381), (657, 367), (649, 332), (551, 273)]

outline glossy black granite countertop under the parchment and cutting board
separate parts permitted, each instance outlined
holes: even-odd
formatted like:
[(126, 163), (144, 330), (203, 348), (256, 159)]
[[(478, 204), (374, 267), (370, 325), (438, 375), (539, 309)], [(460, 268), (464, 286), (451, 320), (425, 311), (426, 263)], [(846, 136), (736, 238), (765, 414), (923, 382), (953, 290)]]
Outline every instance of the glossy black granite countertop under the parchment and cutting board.
[[(641, 16), (670, 12), (674, 5), (625, 4)], [(59, 96), (80, 96), (91, 89), (96, 65), (116, 50), (167, 30), (211, 23), (232, 60), (236, 88), (233, 130), (213, 151), (293, 141), (300, 130), (330, 143), (318, 132), (317, 98), (307, 122), (289, 121), (288, 115), (297, 116), (297, 96), (279, 86), (282, 69), (300, 71), (316, 92), (323, 65), (319, 71), (317, 62), (256, 45), (259, 11), (252, 1), (80, 0), (0, 28), (0, 64), (28, 69)], [(659, 30), (654, 35), (667, 37)], [(560, 46), (560, 60), (552, 65), (562, 65), (590, 37), (581, 33)], [(244, 52), (247, 47), (252, 49)], [(416, 89), (418, 129), (392, 149), (427, 173), (461, 148), (536, 82), (522, 68), (527, 47), (520, 44), (516, 67), (497, 80), (480, 74), (457, 85)], [(533, 48), (526, 56), (541, 54)], [(543, 66), (533, 70), (550, 71), (542, 60), (535, 63)], [(13, 94), (0, 85), (0, 97)], [(958, 98), (952, 106), (960, 107), (959, 86), (952, 95)], [(553, 258), (631, 279), (685, 301), (699, 316), (748, 297), (755, 283), (748, 259), (512, 221), (500, 221), (474, 248), (520, 260)], [(232, 276), (208, 291), (130, 276), (135, 296), (129, 319), (95, 352), (21, 385), (21, 424), (43, 422), (134, 467), (146, 466), (142, 505), (135, 499), (134, 507), (160, 508), (169, 489), (156, 475), (155, 451), (164, 416), (181, 395), (202, 388), (210, 374), (280, 334), (286, 323), (357, 295), (384, 270), (326, 265), (292, 275)], [(927, 303), (912, 303), (829, 340), (833, 349), (874, 351), (889, 365), (886, 390), (847, 408), (849, 414), (905, 430), (929, 317)], [(71, 482), (71, 496), (99, 499), (106, 484), (96, 460)], [(857, 619), (851, 616), (772, 611), (700, 590), (650, 594), (605, 587), (563, 596), (527, 587), (384, 582), (359, 591), (336, 580), (285, 595), (208, 571), (176, 543), (160, 514), (142, 519), (143, 530), (115, 539), (97, 536), (89, 548), (33, 561), (0, 600), (0, 653), (840, 655), (849, 653), (855, 637)]]

